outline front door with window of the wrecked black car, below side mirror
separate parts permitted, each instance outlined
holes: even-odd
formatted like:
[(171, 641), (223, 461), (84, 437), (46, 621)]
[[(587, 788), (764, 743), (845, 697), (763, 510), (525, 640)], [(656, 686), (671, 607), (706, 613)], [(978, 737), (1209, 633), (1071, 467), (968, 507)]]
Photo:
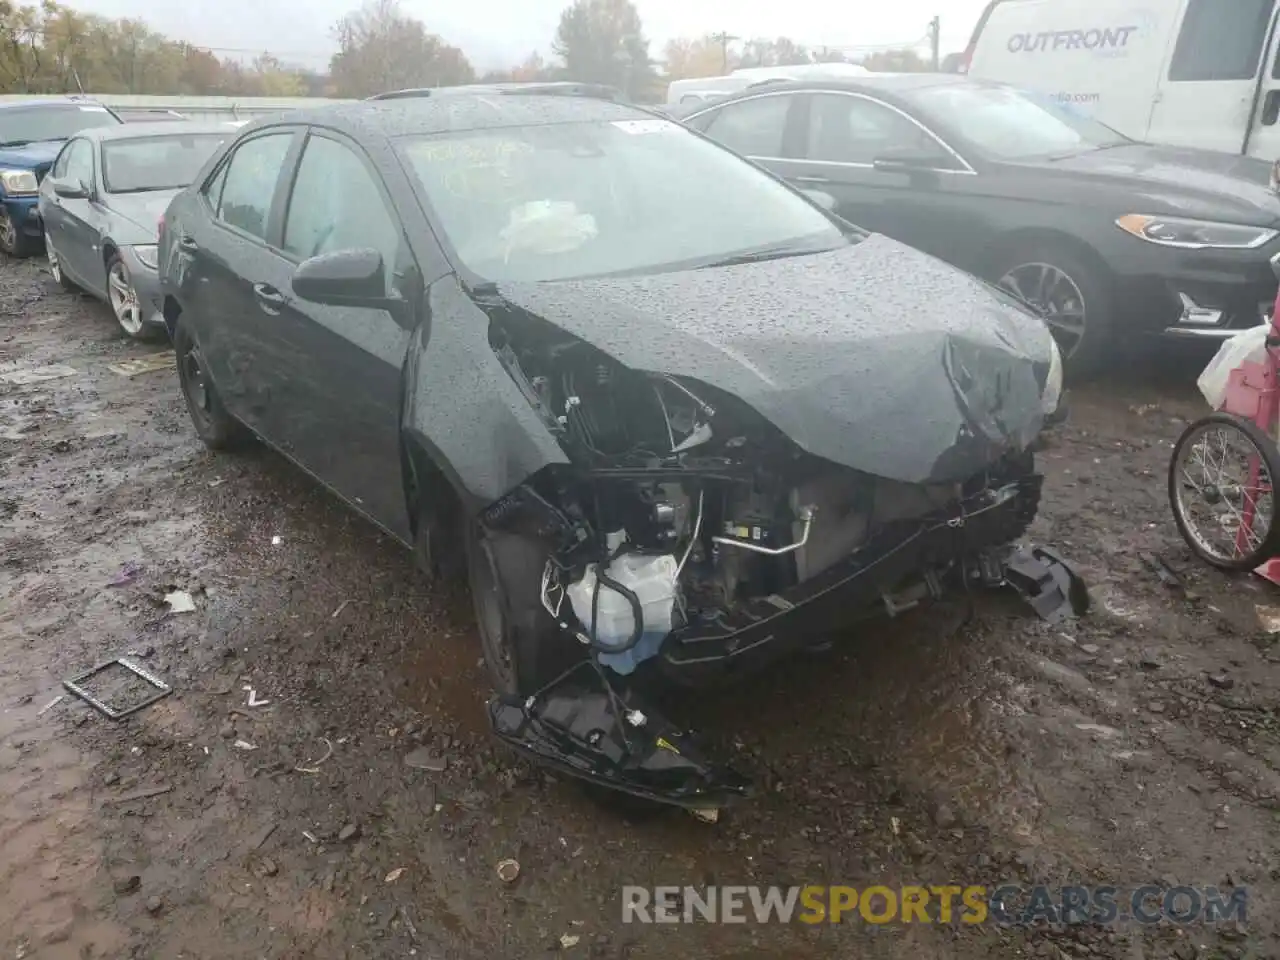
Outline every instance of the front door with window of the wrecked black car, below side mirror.
[[(410, 308), (312, 303), (293, 294), (298, 264), (344, 250), (383, 255), (387, 294)], [(275, 255), (273, 255), (274, 257)], [(343, 498), (401, 539), (408, 513), (401, 474), (401, 370), (422, 282), (378, 169), (351, 140), (307, 137), (279, 243), (280, 278), (270, 316), (255, 324), (253, 351), (271, 402), (264, 429)]]

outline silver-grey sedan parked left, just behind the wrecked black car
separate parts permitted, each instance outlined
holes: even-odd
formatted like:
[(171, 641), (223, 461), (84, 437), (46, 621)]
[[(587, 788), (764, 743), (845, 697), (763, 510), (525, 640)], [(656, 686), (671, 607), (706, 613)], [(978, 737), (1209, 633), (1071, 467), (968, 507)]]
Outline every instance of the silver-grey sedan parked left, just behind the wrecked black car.
[(40, 187), (54, 279), (106, 301), (129, 337), (164, 337), (160, 216), (234, 132), (229, 123), (160, 120), (97, 127), (67, 141)]

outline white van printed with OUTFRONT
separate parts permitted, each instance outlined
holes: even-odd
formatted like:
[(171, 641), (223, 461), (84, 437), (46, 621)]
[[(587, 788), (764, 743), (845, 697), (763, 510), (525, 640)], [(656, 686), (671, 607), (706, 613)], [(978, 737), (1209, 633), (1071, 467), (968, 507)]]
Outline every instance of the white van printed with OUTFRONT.
[(961, 72), (1135, 140), (1280, 157), (1277, 0), (992, 0)]

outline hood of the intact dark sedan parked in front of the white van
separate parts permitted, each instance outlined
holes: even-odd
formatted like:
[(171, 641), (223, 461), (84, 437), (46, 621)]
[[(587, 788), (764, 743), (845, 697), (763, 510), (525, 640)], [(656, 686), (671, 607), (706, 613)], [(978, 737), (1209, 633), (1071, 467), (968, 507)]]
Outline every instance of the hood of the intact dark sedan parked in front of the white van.
[(1260, 227), (1280, 223), (1280, 196), (1271, 188), (1271, 164), (1211, 150), (1129, 143), (1044, 161), (1046, 172), (1111, 186), (1147, 210)]

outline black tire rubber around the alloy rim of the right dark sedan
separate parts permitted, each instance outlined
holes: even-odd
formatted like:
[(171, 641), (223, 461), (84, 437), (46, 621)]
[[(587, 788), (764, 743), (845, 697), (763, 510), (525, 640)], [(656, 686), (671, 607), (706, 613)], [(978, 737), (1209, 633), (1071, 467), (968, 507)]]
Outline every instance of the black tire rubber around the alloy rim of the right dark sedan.
[[(1055, 284), (1050, 292), (1053, 302), (1057, 305), (1074, 300), (1079, 302), (1083, 333), (1074, 338), (1074, 342), (1062, 328), (1055, 328), (1046, 319), (1062, 351), (1066, 372), (1075, 379), (1100, 372), (1114, 348), (1115, 297), (1111, 293), (1111, 278), (1102, 268), (1089, 262), (1085, 256), (1065, 243), (1036, 241), (1002, 253), (991, 271), (991, 279), (997, 287), (1030, 301), (1036, 310), (1044, 312), (1046, 305), (1036, 298), (1038, 291), (1020, 289), (1020, 285), (1034, 285), (1033, 278), (1038, 268), (1059, 271), (1074, 287), (1073, 293), (1065, 284)], [(1018, 278), (1020, 284), (1011, 283), (1011, 278)]]

